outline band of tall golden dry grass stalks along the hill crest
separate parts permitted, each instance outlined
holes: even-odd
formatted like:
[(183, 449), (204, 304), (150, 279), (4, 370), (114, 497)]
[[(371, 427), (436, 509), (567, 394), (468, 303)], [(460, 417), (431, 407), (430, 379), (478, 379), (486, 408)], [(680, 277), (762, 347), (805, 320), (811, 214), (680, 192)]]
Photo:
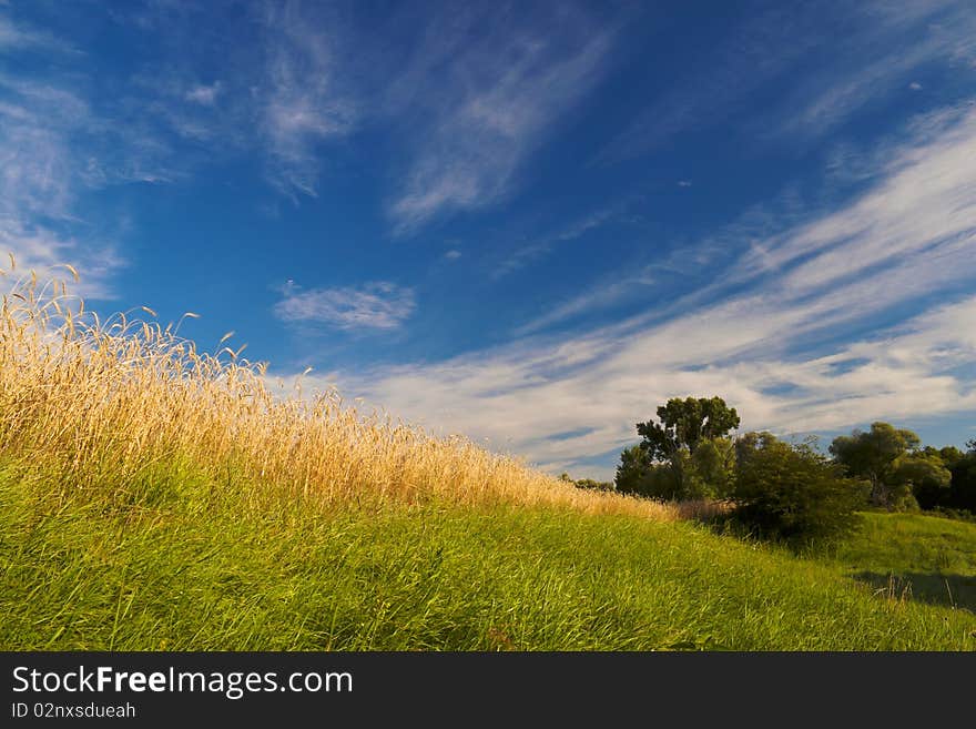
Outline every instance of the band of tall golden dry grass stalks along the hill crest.
[(671, 507), (578, 489), (462, 437), (358, 413), (335, 392), (276, 393), (264, 363), (226, 347), (199, 352), (146, 307), (102, 321), (64, 281), (18, 277), (13, 256), (0, 274), (0, 454), (57, 468), (62, 488), (124, 493), (189, 459), (214, 484), (233, 470), (256, 494), (336, 504), (540, 504), (677, 518)]

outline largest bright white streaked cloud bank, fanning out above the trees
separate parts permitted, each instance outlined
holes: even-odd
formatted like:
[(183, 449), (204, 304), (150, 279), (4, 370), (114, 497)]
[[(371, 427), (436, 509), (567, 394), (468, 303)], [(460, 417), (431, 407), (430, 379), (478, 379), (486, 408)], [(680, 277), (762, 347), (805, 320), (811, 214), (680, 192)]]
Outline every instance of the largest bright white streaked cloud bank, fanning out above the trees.
[(741, 241), (709, 303), (337, 382), (599, 477), (584, 464), (671, 396), (721, 394), (744, 428), (781, 434), (976, 412), (976, 108), (911, 129), (855, 200), (769, 235), (764, 256)]

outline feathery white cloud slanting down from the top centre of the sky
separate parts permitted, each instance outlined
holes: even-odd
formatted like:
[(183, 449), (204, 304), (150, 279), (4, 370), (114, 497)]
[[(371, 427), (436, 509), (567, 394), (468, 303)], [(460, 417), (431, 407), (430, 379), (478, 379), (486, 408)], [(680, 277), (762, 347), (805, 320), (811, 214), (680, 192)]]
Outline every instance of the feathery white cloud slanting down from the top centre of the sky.
[(389, 205), (400, 233), (504, 198), (546, 130), (600, 77), (613, 36), (568, 7), (528, 22), (510, 8), (467, 9), (434, 26), (404, 73), (414, 92), (389, 91), (408, 109), (415, 144)]

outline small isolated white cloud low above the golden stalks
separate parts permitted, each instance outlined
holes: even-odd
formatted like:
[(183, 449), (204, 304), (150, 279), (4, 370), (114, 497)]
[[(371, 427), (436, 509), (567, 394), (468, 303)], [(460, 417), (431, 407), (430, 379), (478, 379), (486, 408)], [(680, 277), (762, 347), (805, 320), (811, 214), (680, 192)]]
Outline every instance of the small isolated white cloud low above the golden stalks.
[(274, 306), (275, 315), (288, 324), (323, 325), (337, 330), (395, 330), (416, 308), (410, 288), (388, 282), (358, 287), (312, 288), (286, 286), (285, 297)]

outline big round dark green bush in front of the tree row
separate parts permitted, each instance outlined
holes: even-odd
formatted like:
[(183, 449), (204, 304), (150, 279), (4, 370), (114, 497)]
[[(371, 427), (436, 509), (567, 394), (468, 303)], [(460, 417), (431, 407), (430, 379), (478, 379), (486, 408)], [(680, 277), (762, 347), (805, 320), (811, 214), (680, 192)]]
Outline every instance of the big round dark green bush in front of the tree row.
[(845, 478), (841, 466), (809, 445), (759, 434), (740, 441), (736, 450), (735, 516), (759, 536), (811, 544), (856, 525), (868, 485)]

